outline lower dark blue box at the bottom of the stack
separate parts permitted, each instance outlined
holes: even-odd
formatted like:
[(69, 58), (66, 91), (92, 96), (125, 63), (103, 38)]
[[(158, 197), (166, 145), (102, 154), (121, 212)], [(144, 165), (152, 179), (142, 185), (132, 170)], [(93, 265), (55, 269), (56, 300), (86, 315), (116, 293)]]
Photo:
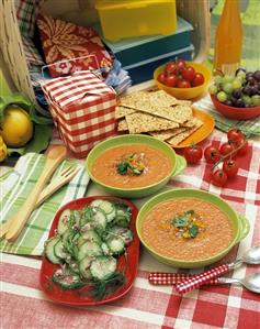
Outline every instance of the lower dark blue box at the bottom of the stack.
[(132, 65), (123, 66), (128, 72), (132, 79), (132, 84), (140, 84), (154, 78), (154, 70), (170, 61), (174, 61), (177, 57), (184, 61), (191, 61), (194, 46), (191, 44), (182, 50), (163, 54), (161, 56), (152, 57), (147, 61), (135, 63)]

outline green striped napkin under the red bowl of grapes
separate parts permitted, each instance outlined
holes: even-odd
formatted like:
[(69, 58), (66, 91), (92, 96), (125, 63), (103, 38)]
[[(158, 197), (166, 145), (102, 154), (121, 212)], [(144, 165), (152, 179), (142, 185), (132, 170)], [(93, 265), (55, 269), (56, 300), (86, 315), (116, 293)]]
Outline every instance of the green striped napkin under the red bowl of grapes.
[(260, 117), (252, 120), (234, 120), (225, 118), (215, 110), (210, 97), (205, 97), (193, 105), (194, 107), (208, 112), (215, 119), (216, 128), (224, 132), (227, 132), (231, 128), (238, 128), (247, 138), (251, 135), (260, 135)]

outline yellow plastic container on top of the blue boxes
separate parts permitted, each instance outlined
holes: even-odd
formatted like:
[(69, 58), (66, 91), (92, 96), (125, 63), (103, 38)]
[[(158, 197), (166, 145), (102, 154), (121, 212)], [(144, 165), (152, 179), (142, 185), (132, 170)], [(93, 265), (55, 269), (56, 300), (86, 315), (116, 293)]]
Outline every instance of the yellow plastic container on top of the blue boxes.
[(97, 0), (95, 9), (104, 37), (113, 42), (177, 29), (176, 0)]

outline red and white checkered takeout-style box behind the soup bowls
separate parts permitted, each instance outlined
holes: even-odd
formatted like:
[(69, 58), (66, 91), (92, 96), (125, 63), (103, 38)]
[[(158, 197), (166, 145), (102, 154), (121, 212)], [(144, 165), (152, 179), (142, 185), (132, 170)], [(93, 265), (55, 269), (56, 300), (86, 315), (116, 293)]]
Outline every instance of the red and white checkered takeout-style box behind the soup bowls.
[(116, 94), (93, 73), (77, 72), (42, 88), (60, 136), (76, 157), (86, 157), (97, 143), (115, 135)]

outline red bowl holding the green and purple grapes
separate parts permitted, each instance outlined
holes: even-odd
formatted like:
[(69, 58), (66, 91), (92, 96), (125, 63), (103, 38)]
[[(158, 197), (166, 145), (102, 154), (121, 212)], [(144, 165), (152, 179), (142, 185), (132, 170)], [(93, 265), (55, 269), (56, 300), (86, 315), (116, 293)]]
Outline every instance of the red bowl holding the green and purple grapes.
[(249, 120), (260, 116), (260, 106), (253, 108), (235, 108), (218, 101), (214, 95), (211, 95), (211, 98), (215, 109), (226, 118)]

